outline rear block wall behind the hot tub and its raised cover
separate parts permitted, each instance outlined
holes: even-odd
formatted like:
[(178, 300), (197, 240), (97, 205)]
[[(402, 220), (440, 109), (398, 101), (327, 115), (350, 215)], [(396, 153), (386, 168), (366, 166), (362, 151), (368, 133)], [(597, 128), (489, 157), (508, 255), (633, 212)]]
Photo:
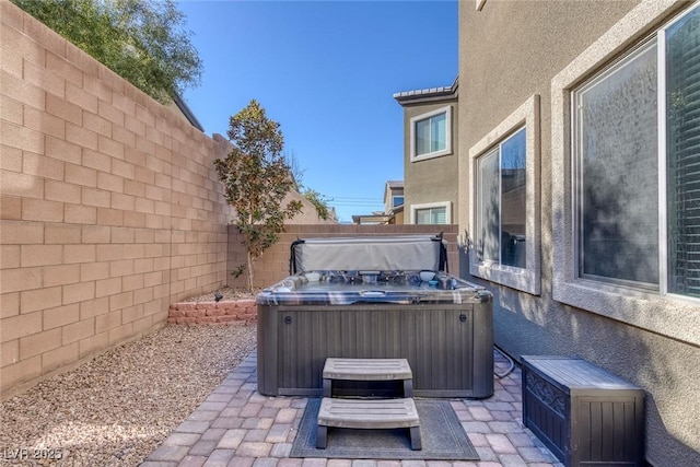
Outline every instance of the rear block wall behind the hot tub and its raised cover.
[[(289, 258), (292, 243), (298, 238), (332, 237), (332, 236), (362, 236), (362, 235), (410, 235), (410, 234), (439, 234), (447, 242), (447, 265), (450, 272), (459, 276), (459, 246), (457, 244), (457, 225), (361, 225), (361, 224), (291, 224), (287, 225), (287, 232), (280, 235), (280, 241), (262, 254), (255, 264), (253, 278), (255, 288), (270, 285), (289, 276)], [(246, 272), (238, 278), (231, 276), (238, 265), (245, 264), (246, 249), (241, 243), (242, 236), (234, 225), (229, 226), (229, 285), (247, 287)]]

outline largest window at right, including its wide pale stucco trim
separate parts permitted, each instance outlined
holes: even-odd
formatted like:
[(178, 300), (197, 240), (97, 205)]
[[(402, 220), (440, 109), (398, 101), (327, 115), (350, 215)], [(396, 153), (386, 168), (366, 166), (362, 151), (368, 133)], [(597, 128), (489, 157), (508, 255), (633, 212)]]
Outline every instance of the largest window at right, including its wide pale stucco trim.
[(551, 80), (553, 300), (695, 346), (699, 45), (700, 3), (642, 2)]

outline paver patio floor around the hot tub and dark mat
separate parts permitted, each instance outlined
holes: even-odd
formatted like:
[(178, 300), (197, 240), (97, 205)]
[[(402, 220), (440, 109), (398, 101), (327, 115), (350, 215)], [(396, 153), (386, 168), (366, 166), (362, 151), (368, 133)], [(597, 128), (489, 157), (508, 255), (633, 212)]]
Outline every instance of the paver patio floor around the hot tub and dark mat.
[[(510, 363), (494, 351), (495, 371)], [(256, 353), (245, 359), (187, 420), (153, 451), (142, 467), (561, 467), (522, 424), (521, 370), (495, 378), (488, 399), (452, 406), (479, 453), (478, 462), (290, 458), (306, 407), (303, 397), (257, 392)]]

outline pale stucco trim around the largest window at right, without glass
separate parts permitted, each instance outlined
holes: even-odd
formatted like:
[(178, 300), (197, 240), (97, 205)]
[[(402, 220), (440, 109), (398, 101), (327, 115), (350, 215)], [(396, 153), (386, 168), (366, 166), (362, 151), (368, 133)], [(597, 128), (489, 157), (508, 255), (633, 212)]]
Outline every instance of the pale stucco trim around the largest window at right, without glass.
[(635, 39), (661, 26), (658, 22), (679, 7), (684, 5), (673, 0), (640, 3), (551, 81), (552, 296), (558, 302), (699, 346), (697, 300), (581, 279), (575, 271), (571, 92)]

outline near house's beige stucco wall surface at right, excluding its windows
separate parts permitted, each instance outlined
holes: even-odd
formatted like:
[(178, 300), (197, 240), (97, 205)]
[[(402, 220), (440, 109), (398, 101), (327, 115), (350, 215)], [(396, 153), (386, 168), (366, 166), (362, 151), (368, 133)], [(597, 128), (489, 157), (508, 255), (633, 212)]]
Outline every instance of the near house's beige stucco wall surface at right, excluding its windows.
[[(555, 255), (563, 245), (553, 243), (552, 226), (561, 217), (552, 214), (552, 79), (628, 13), (638, 1), (540, 1), (505, 2), (487, 0), (481, 11), (475, 2), (459, 4), (459, 208), (460, 232), (469, 226), (471, 167), (467, 154), (475, 144), (505, 120), (534, 94), (540, 97), (540, 186), (537, 194), (541, 230), (541, 294), (532, 295), (514, 289), (471, 280), (494, 293), (494, 332), (497, 345), (515, 358), (524, 354), (563, 354), (583, 357), (648, 392), (646, 458), (655, 466), (700, 465), (700, 350), (697, 339), (687, 334), (674, 336), (672, 326), (663, 332), (623, 323), (615, 317), (633, 315), (635, 308), (620, 307), (605, 314), (565, 306), (552, 296)], [(681, 8), (670, 2), (648, 2), (662, 7), (655, 20), (645, 26), (653, 30)], [(651, 10), (651, 9), (650, 9)], [(620, 26), (621, 27), (621, 26)], [(620, 28), (620, 34), (625, 33)], [(622, 49), (639, 38), (622, 40)], [(608, 34), (615, 36), (616, 34)], [(608, 37), (606, 36), (606, 37)], [(556, 125), (555, 125), (556, 124)], [(557, 127), (560, 128), (560, 127)], [(559, 153), (558, 153), (559, 154)], [(467, 261), (463, 259), (463, 275)], [(698, 316), (697, 306), (655, 301), (650, 304), (660, 320)], [(657, 318), (658, 319), (658, 318)], [(663, 325), (662, 325), (663, 326)], [(690, 327), (693, 328), (692, 326)], [(690, 331), (692, 332), (692, 331)], [(695, 325), (695, 336), (700, 323)]]

